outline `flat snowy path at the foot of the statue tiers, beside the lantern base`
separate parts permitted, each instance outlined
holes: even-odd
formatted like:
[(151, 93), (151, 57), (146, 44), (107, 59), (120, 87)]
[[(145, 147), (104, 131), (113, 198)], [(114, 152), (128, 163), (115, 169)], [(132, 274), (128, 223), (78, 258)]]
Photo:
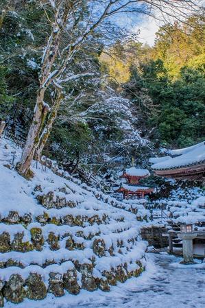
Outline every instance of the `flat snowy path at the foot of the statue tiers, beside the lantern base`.
[[(45, 300), (25, 300), (18, 308), (204, 308), (205, 263), (180, 265), (181, 258), (147, 254), (147, 271), (137, 279), (118, 283), (109, 293), (99, 290), (49, 295)], [(6, 308), (16, 305), (7, 304)]]

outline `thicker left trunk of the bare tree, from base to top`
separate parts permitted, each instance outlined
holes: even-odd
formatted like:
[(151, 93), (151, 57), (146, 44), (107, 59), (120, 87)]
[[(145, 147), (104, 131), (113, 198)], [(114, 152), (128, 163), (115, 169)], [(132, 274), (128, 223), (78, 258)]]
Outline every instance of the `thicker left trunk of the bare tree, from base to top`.
[(29, 169), (29, 167), (32, 163), (32, 159), (34, 158), (34, 154), (38, 147), (40, 132), (43, 129), (43, 123), (49, 110), (48, 106), (46, 106), (44, 103), (45, 91), (47, 91), (49, 84), (51, 84), (54, 75), (58, 71), (52, 71), (53, 63), (55, 62), (56, 56), (58, 54), (58, 49), (60, 41), (62, 39), (62, 34), (64, 32), (64, 27), (67, 23), (69, 9), (69, 6), (67, 7), (67, 2), (63, 2), (63, 14), (60, 19), (62, 21), (62, 24), (59, 27), (59, 14), (61, 12), (60, 4), (58, 8), (56, 8), (55, 22), (52, 24), (52, 32), (47, 41), (47, 47), (45, 48), (45, 53), (43, 55), (40, 86), (37, 93), (34, 117), (32, 120), (32, 125), (30, 126), (29, 132), (27, 134), (27, 141), (23, 149), (21, 161), (16, 165), (16, 170), (25, 178), (30, 178), (33, 176), (32, 171)]

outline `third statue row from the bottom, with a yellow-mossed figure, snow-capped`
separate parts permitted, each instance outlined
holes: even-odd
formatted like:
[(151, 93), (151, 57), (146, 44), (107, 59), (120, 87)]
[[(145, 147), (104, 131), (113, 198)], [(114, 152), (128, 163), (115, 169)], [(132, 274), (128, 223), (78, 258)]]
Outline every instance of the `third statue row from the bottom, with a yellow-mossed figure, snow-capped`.
[[(114, 224), (80, 227), (80, 226), (56, 226), (56, 224), (32, 223), (25, 228), (21, 224), (0, 224), (0, 252), (9, 252), (11, 250), (27, 252), (30, 250), (43, 250), (49, 246), (51, 250), (67, 248), (70, 250), (91, 248), (93, 239), (97, 235), (108, 238), (120, 238), (125, 232), (130, 234), (131, 223), (114, 222)], [(136, 228), (135, 228), (136, 230)], [(94, 238), (95, 239), (95, 238)], [(132, 239), (130, 239), (132, 240)], [(97, 247), (95, 245), (95, 247)], [(113, 247), (113, 245), (112, 245)], [(112, 248), (110, 248), (112, 249)]]

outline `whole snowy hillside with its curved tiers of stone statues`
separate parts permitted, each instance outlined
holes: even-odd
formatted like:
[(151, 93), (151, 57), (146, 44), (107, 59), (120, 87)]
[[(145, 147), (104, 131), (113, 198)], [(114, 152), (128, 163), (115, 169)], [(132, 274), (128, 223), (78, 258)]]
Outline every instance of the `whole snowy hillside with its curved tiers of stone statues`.
[[(14, 165), (21, 149), (0, 140), (0, 301), (104, 291), (145, 267), (136, 213), (67, 172), (33, 163), (25, 180)], [(60, 176), (61, 175), (61, 176)], [(137, 213), (137, 215), (139, 215)], [(142, 220), (142, 218), (141, 218)]]

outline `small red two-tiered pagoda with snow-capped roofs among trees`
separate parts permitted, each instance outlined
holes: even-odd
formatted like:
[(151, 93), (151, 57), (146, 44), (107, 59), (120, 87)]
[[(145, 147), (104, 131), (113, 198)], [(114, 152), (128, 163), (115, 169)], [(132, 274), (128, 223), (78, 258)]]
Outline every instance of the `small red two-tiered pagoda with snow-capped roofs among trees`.
[(136, 167), (125, 169), (121, 178), (125, 179), (126, 182), (121, 183), (121, 186), (115, 192), (122, 193), (123, 199), (144, 198), (154, 191), (153, 188), (139, 184), (139, 181), (142, 178), (147, 178), (147, 176), (149, 176), (147, 169), (137, 169)]

